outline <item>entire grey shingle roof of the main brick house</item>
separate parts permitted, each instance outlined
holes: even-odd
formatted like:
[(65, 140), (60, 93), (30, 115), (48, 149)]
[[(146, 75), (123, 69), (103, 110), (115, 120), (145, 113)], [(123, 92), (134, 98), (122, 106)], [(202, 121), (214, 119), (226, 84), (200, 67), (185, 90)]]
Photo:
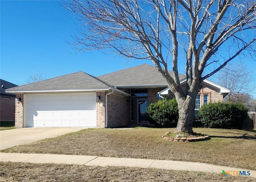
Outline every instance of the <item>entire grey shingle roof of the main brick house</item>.
[[(170, 72), (172, 74), (172, 72)], [(180, 74), (180, 79), (184, 78)], [(113, 86), (166, 86), (166, 82), (154, 66), (142, 64), (125, 70), (94, 77), (85, 72), (67, 74), (40, 82), (10, 88), (8, 92), (36, 92), (57, 90), (108, 90), (122, 92)]]

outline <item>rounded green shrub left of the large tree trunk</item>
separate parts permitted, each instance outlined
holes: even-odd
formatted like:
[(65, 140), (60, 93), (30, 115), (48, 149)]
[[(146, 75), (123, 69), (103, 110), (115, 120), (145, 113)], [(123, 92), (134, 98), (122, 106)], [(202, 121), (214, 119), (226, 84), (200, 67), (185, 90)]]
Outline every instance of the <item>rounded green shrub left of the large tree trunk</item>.
[(176, 127), (179, 118), (176, 99), (164, 98), (151, 103), (146, 110), (146, 116), (150, 124), (166, 128)]

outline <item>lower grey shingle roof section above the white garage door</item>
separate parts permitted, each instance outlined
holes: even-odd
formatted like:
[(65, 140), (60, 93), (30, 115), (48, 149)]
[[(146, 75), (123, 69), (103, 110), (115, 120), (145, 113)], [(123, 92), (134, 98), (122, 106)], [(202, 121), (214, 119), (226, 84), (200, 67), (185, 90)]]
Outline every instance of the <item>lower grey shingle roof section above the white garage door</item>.
[[(66, 92), (66, 91), (96, 91), (96, 90), (114, 90), (116, 92), (122, 93), (102, 80), (91, 76), (85, 72), (76, 72), (72, 74), (67, 74), (64, 76), (59, 76), (56, 78), (51, 78), (48, 80), (43, 80), (40, 82), (35, 82), (31, 84), (26, 84), (23, 86), (18, 86), (15, 88), (10, 88), (6, 90), (12, 93), (26, 93), (26, 92)], [(124, 93), (122, 93), (124, 94)]]

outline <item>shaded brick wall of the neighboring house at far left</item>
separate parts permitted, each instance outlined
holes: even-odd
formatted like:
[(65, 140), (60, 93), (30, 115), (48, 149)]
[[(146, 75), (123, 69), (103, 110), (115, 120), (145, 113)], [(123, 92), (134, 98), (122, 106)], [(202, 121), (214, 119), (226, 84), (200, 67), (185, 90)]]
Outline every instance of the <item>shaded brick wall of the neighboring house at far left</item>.
[(15, 96), (1, 96), (0, 120), (15, 120)]

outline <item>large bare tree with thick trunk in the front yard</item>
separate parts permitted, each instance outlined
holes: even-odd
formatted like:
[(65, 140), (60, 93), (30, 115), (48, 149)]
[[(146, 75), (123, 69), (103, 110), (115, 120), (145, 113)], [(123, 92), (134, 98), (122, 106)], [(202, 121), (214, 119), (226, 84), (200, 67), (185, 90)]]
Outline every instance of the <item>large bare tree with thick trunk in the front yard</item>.
[[(81, 22), (73, 37), (78, 50), (105, 49), (155, 64), (178, 102), (176, 132), (193, 132), (202, 81), (255, 50), (255, 1), (73, 0), (63, 6)], [(186, 65), (185, 92), (178, 64)]]

